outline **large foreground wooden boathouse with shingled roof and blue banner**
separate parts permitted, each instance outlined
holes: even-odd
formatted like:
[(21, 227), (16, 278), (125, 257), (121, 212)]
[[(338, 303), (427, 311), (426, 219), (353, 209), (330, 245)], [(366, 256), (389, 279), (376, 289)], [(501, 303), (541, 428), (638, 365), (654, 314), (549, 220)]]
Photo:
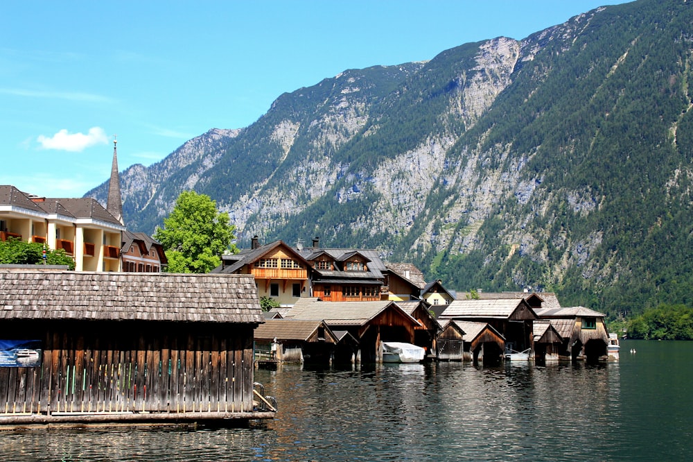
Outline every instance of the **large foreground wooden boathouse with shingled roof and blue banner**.
[(0, 425), (272, 418), (250, 275), (0, 270)]

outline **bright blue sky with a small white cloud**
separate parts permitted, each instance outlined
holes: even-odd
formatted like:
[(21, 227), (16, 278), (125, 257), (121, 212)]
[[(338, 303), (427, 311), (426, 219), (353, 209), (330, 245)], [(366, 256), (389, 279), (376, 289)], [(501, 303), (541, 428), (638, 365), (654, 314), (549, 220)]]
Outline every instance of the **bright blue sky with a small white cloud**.
[(622, 0), (6, 1), (0, 185), (81, 197), (346, 69), (523, 39)]

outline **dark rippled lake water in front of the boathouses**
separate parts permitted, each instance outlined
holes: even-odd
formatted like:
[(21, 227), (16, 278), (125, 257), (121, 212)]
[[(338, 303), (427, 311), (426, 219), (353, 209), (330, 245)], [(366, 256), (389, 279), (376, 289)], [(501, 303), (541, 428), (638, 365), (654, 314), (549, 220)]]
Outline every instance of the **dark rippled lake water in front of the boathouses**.
[[(618, 362), (258, 370), (277, 418), (242, 429), (0, 431), (3, 461), (685, 461), (693, 342)], [(635, 348), (635, 354), (629, 350)]]

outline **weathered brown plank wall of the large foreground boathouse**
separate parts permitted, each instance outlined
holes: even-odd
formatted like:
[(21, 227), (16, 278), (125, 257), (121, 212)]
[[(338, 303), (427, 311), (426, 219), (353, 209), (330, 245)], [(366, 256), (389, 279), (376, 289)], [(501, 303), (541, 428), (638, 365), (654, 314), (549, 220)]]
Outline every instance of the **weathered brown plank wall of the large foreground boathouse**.
[(0, 368), (0, 413), (253, 410), (251, 328), (161, 332), (47, 332), (41, 366)]

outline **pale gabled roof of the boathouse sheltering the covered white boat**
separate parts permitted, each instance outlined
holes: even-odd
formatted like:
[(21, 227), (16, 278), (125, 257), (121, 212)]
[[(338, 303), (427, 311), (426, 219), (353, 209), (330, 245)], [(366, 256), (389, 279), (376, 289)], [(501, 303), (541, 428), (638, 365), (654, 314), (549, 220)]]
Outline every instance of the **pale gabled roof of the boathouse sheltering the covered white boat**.
[(296, 306), (287, 311), (285, 317), (304, 320), (325, 320), (328, 325), (365, 325), (386, 309), (396, 309), (409, 318), (414, 325), (416, 319), (403, 311), (395, 302), (313, 302)]

